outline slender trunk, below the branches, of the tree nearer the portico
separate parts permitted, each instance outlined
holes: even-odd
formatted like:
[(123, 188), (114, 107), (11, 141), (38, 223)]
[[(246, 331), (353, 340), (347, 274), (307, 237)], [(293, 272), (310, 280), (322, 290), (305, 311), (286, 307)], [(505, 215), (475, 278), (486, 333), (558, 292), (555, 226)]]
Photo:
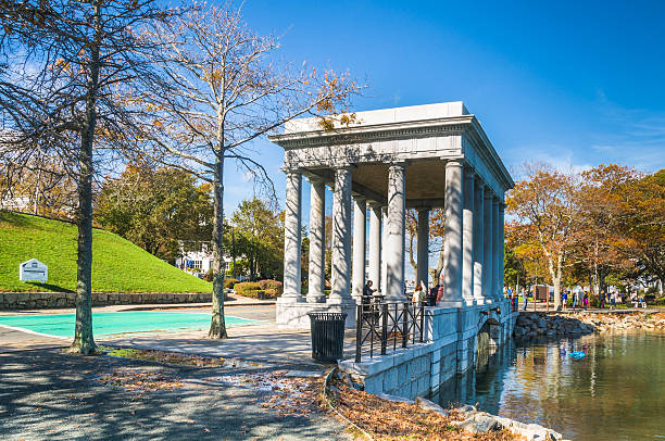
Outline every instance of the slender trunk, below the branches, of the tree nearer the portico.
[(208, 337), (225, 339), (226, 323), (224, 322), (224, 149), (219, 149), (215, 159), (214, 184), (214, 218), (213, 218), (213, 292), (212, 318)]

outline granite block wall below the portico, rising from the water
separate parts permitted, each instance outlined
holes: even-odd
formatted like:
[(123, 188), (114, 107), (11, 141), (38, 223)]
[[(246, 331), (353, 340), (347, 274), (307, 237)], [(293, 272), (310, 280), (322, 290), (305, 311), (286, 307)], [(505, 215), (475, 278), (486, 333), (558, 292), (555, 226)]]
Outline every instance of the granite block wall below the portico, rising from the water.
[[(499, 306), (500, 311), (497, 311)], [(398, 349), (386, 355), (339, 362), (339, 368), (365, 392), (414, 400), (439, 391), (439, 386), (475, 366), (477, 336), (482, 325), (492, 324), (492, 342), (505, 342), (518, 313), (510, 313), (507, 301), (466, 307), (426, 307), (425, 343)]]

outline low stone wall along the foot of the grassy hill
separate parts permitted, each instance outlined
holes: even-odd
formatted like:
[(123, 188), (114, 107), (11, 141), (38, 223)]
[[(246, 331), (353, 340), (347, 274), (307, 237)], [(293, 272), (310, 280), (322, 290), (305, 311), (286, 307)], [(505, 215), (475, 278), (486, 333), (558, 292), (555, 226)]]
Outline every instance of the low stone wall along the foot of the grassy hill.
[[(74, 292), (0, 292), (0, 310), (75, 307)], [(92, 306), (211, 302), (210, 292), (93, 292)]]

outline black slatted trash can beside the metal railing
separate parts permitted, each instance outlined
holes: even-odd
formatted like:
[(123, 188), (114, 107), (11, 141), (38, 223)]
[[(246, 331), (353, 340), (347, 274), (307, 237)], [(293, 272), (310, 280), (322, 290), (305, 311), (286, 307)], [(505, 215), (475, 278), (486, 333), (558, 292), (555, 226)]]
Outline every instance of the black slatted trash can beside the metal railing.
[(346, 313), (309, 313), (312, 333), (312, 358), (335, 363), (344, 353)]

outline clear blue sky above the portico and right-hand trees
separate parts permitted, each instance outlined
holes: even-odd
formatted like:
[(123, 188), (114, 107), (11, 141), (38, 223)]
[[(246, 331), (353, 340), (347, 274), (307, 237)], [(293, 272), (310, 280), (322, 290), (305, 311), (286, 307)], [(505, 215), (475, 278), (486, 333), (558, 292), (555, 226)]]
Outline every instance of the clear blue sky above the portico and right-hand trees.
[[(665, 2), (248, 0), (243, 15), (283, 35), (285, 60), (366, 78), (353, 110), (464, 101), (511, 171), (665, 166)], [(255, 149), (281, 196), (283, 150)], [(252, 193), (227, 169), (230, 213)]]

